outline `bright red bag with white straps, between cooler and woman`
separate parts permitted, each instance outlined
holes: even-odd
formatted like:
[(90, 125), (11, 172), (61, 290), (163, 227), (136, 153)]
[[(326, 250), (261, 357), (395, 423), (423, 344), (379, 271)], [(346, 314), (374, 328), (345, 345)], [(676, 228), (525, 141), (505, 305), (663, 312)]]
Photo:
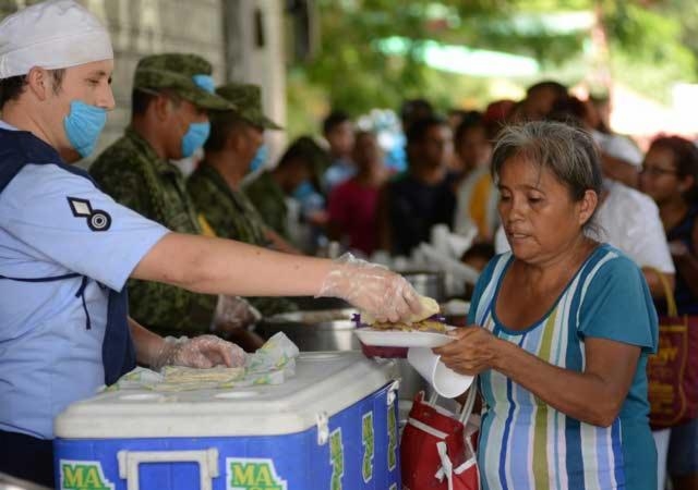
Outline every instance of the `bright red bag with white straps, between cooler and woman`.
[[(477, 389), (470, 388), (460, 417), (414, 397), (400, 441), (402, 490), (478, 490), (476, 444), (480, 417), (471, 416)], [(468, 420), (467, 425), (465, 421)]]

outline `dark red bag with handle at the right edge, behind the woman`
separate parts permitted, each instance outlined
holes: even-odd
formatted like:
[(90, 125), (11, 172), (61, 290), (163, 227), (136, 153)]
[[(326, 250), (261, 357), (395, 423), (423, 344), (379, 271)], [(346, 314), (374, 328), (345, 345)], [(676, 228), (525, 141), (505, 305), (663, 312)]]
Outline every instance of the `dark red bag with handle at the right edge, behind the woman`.
[(665, 429), (698, 417), (698, 317), (679, 317), (664, 274), (667, 316), (659, 319), (659, 350), (647, 362), (650, 425)]

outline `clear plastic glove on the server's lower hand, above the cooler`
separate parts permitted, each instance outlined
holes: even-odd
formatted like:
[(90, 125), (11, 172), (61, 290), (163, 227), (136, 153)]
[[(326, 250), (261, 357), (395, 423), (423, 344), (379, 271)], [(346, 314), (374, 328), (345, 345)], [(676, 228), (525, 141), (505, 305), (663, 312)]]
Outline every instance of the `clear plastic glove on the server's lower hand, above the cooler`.
[(151, 368), (160, 370), (163, 366), (186, 366), (212, 368), (244, 366), (246, 354), (238, 345), (215, 335), (200, 335), (193, 339), (181, 336), (165, 339), (160, 351), (151, 363)]

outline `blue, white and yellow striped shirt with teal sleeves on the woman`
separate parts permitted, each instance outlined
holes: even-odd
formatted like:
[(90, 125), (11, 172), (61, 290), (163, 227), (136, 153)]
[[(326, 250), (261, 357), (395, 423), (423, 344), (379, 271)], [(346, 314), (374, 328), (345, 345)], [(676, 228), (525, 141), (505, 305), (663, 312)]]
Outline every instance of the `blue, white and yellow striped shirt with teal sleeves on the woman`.
[(657, 454), (648, 425), (647, 356), (658, 343), (657, 314), (638, 267), (600, 245), (543, 318), (507, 329), (494, 305), (510, 253), (482, 273), (469, 323), (565, 369), (585, 370), (585, 339), (610, 339), (641, 347), (621, 413), (602, 428), (582, 422), (537, 399), (502, 373), (480, 376), (484, 399), (479, 465), (484, 490), (657, 489)]

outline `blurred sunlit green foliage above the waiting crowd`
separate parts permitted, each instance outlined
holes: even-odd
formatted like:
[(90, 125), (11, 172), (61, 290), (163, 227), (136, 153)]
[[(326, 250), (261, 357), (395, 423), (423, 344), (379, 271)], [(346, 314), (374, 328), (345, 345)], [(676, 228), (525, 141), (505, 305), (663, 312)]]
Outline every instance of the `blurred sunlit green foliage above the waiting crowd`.
[[(442, 109), (477, 107), (502, 97), (493, 79), (426, 66), (426, 40), (532, 57), (541, 65), (540, 77), (585, 79), (598, 63), (589, 54), (590, 29), (561, 28), (540, 14), (574, 17), (597, 9), (616, 79), (660, 100), (667, 100), (673, 83), (696, 79), (695, 0), (318, 0), (318, 51), (289, 68), (289, 132), (316, 132), (317, 121), (330, 108), (359, 115), (371, 108), (397, 109), (417, 96)], [(405, 54), (376, 49), (378, 40), (394, 36), (409, 40)], [(504, 83), (516, 93), (516, 86), (530, 82)]]

